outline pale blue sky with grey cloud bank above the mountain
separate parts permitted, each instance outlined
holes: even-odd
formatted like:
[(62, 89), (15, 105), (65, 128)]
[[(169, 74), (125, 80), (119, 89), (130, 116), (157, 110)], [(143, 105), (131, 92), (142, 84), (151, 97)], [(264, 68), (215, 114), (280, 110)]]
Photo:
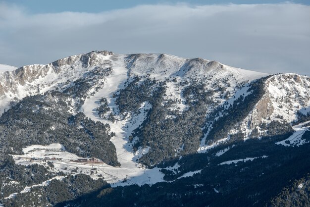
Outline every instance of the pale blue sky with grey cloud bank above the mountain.
[(310, 76), (310, 0), (0, 0), (0, 64), (94, 50)]

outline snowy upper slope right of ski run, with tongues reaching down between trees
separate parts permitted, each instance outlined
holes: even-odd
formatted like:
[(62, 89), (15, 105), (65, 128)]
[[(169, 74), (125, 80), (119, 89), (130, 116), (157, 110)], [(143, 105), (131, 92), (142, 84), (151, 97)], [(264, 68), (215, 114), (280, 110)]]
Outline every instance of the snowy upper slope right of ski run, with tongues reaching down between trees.
[[(226, 95), (237, 99), (242, 95), (246, 83), (267, 76), (267, 73), (230, 67), (217, 61), (202, 58), (186, 59), (169, 54), (132, 54), (126, 58), (129, 76), (148, 77), (166, 82), (166, 100), (180, 100), (174, 108), (186, 107), (182, 91), (191, 85), (204, 85), (205, 90), (214, 91), (211, 97), (216, 105), (223, 104)], [(143, 80), (143, 79), (142, 79)], [(231, 99), (233, 100), (233, 99)]]

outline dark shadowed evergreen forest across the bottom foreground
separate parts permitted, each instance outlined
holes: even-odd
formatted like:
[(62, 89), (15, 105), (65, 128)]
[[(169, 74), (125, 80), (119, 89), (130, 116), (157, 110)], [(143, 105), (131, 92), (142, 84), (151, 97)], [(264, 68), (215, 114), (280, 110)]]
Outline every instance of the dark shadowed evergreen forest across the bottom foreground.
[[(78, 194), (72, 193), (74, 191), (71, 189), (75, 187), (69, 187), (68, 183), (72, 186), (80, 186), (79, 189), (84, 189), (84, 185), (73, 185), (71, 180), (74, 178), (68, 178), (55, 181), (47, 187), (41, 187), (41, 190), (33, 189), (32, 194), (30, 192), (17, 195), (15, 200), (9, 200), (4, 205), (18, 206), (29, 200), (34, 202), (37, 198), (43, 198), (47, 203), (39, 204), (51, 205), (50, 202), (53, 202), (56, 206), (58, 204), (72, 207), (307, 206), (310, 184), (307, 174), (310, 172), (310, 159), (305, 154), (310, 150), (310, 143), (294, 148), (275, 144), (274, 140), (283, 140), (288, 136), (249, 139), (245, 142), (235, 141), (234, 147), (230, 143), (211, 149), (207, 154), (184, 155), (181, 159), (174, 160), (174, 163), (178, 162), (180, 167), (176, 170), (175, 177), (167, 179), (171, 182), (156, 183), (152, 186), (130, 185), (114, 188), (110, 188), (109, 185), (102, 185), (102, 187), (95, 185), (98, 188), (93, 187), (93, 190), (89, 191), (87, 183), (93, 185), (95, 181), (88, 180), (84, 184), (88, 190), (80, 190), (83, 193)], [(305, 139), (309, 138), (305, 137)], [(231, 149), (223, 155), (213, 155), (227, 146)], [(263, 158), (262, 155), (267, 157)], [(258, 158), (252, 161), (219, 165), (223, 161), (246, 157)], [(162, 164), (170, 166), (174, 163), (171, 160)], [(201, 171), (190, 177), (176, 179), (194, 170)], [(292, 180), (296, 180), (293, 185)], [(300, 184), (303, 184), (302, 188)], [(61, 195), (53, 194), (55, 186), (58, 190), (62, 189)]]

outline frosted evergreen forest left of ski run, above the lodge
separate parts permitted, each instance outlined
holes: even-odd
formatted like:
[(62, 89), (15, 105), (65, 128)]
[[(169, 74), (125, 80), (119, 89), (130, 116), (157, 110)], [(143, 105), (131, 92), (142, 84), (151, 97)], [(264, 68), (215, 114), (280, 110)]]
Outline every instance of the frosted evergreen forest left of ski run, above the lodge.
[(0, 147), (23, 154), (27, 146), (60, 143), (70, 153), (118, 166), (109, 126), (69, 113), (69, 98), (60, 92), (24, 98), (0, 117)]

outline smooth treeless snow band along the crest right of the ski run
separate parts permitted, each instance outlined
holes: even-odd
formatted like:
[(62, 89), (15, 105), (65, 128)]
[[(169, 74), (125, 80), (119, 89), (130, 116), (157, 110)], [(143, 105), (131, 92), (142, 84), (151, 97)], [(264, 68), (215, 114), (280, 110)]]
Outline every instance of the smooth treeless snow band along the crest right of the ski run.
[[(147, 76), (162, 80), (169, 77), (184, 79), (200, 78), (216, 75), (217, 79), (231, 77), (237, 82), (254, 80), (266, 76), (260, 73), (240, 68), (230, 67), (217, 61), (202, 58), (186, 59), (169, 54), (131, 54), (127, 58), (131, 74)], [(233, 82), (233, 80), (232, 80)]]

